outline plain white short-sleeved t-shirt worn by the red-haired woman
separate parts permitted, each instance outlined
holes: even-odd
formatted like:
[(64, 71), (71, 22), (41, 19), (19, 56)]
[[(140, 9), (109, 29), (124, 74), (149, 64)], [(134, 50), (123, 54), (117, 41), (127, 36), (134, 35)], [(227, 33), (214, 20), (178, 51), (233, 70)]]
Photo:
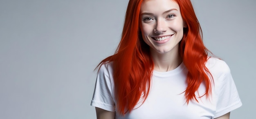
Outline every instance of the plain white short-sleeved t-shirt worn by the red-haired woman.
[[(213, 119), (242, 106), (236, 86), (227, 64), (217, 58), (209, 58), (207, 68), (213, 76), (209, 98), (203, 96), (198, 102), (186, 104), (186, 75), (184, 64), (168, 72), (153, 71), (150, 92), (146, 101), (135, 106), (124, 116), (115, 108), (114, 80), (112, 64), (103, 64), (97, 75), (91, 106), (116, 112), (115, 119)], [(195, 93), (197, 97), (205, 93), (204, 84)]]

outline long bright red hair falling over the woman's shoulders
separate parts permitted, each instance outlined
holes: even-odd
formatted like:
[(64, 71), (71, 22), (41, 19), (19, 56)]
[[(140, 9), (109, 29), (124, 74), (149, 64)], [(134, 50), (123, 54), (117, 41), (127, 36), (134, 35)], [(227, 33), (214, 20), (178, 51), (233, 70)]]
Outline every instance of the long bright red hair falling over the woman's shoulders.
[[(103, 59), (103, 63), (113, 62), (116, 107), (120, 114), (130, 112), (139, 99), (145, 99), (150, 89), (150, 80), (154, 62), (150, 57), (149, 46), (143, 41), (139, 28), (139, 13), (143, 0), (130, 0), (128, 3), (121, 41), (114, 55)], [(211, 93), (211, 81), (205, 62), (208, 50), (201, 38), (201, 27), (195, 16), (190, 0), (174, 0), (180, 6), (180, 12), (186, 28), (180, 42), (180, 56), (188, 69), (187, 88), (184, 91), (186, 102), (195, 100), (195, 92), (204, 83), (207, 97)], [(210, 74), (210, 73), (209, 73)], [(141, 96), (142, 95), (142, 96)]]

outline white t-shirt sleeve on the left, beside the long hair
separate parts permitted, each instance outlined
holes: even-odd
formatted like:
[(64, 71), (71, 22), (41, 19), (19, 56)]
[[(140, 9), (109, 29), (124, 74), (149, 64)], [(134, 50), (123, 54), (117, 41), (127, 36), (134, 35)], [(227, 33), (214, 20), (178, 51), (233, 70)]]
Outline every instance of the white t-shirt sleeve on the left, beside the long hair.
[(108, 64), (103, 64), (97, 74), (91, 106), (115, 112), (113, 100), (113, 82), (111, 70)]

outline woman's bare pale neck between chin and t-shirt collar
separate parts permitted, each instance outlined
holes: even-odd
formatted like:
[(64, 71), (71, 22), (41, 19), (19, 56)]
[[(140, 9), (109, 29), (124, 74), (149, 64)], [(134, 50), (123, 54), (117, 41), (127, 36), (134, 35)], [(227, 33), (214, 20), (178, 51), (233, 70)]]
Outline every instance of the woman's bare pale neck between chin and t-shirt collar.
[(182, 63), (178, 46), (173, 48), (168, 53), (158, 53), (155, 50), (150, 50), (150, 53), (155, 64), (155, 71), (171, 71)]

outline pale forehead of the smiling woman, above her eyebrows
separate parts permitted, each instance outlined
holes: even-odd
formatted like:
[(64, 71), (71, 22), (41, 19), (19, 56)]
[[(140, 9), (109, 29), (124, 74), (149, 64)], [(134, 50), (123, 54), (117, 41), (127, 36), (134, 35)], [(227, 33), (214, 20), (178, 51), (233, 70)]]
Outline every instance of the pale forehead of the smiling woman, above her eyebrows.
[(140, 12), (154, 13), (161, 10), (177, 9), (179, 5), (173, 0), (144, 0), (141, 4)]

